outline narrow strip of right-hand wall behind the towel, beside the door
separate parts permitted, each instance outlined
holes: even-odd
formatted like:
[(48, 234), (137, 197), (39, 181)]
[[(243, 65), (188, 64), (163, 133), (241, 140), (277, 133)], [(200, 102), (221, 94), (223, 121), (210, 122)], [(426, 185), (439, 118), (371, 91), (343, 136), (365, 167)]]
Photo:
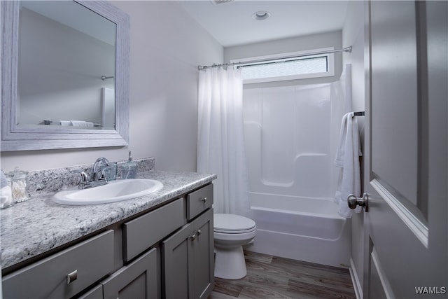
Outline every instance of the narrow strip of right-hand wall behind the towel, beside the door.
[[(351, 53), (344, 53), (344, 64), (351, 64), (351, 95), (353, 111), (364, 111), (364, 3), (363, 1), (349, 1), (346, 20), (342, 30), (344, 47), (352, 46)], [(363, 138), (363, 118), (358, 118), (361, 138)], [(363, 173), (361, 171), (361, 173)], [(351, 218), (351, 256), (353, 267), (358, 275), (360, 284), (363, 282), (363, 253), (364, 253), (364, 214), (353, 214)], [(362, 288), (362, 285), (358, 287)]]

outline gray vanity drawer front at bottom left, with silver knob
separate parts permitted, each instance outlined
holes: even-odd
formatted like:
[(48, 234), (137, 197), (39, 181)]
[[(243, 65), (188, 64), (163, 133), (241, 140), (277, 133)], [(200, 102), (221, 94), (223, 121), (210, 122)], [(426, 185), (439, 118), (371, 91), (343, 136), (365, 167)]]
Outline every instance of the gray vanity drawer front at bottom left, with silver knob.
[[(113, 270), (113, 230), (3, 277), (3, 298), (70, 298)], [(69, 273), (76, 279), (67, 284)]]

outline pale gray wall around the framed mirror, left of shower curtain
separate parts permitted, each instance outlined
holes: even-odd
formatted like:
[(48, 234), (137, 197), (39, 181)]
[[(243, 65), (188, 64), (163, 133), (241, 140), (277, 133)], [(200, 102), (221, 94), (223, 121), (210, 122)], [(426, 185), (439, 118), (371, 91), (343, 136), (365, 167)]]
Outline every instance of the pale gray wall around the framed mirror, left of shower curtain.
[[(195, 171), (197, 65), (223, 61), (223, 47), (174, 1), (112, 1), (130, 15), (130, 146), (157, 169)], [(5, 171), (124, 160), (128, 148), (1, 153)]]

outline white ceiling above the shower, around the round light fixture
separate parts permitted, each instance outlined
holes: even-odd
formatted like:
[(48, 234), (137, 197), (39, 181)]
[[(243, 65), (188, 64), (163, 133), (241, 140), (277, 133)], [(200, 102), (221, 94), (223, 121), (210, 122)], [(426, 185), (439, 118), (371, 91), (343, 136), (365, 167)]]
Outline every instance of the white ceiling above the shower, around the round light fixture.
[[(224, 47), (342, 29), (348, 1), (182, 0), (183, 8)], [(269, 11), (266, 20), (253, 13)]]

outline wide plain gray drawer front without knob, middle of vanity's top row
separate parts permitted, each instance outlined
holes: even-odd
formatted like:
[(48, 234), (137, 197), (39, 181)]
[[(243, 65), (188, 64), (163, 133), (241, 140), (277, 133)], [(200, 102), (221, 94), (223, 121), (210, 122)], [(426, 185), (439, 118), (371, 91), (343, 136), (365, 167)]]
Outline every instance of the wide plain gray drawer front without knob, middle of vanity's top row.
[(132, 260), (184, 223), (183, 198), (123, 225), (123, 259)]

